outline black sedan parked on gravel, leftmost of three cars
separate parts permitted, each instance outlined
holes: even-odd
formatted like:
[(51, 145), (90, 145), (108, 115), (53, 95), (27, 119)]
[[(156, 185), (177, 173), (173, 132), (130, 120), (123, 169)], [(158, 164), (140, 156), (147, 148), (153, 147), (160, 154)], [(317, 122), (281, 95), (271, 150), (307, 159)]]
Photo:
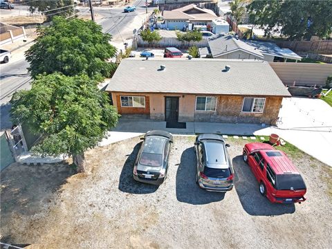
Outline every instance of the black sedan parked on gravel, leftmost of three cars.
[(133, 165), (133, 178), (160, 185), (167, 177), (169, 151), (173, 136), (167, 131), (148, 131)]

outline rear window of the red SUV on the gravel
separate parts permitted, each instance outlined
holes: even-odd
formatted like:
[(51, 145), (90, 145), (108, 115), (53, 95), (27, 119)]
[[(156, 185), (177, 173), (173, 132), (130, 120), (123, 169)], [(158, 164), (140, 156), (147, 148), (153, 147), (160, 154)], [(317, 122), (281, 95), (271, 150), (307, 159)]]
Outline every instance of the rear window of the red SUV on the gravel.
[(300, 174), (278, 174), (277, 190), (306, 190), (306, 184)]

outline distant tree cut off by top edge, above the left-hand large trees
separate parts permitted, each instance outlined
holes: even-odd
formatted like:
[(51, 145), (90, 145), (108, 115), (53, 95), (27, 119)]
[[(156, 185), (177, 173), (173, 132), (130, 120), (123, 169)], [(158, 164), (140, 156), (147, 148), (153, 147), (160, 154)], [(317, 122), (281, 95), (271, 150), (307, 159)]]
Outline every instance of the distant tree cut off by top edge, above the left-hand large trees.
[(42, 1), (26, 1), (31, 13), (42, 12), (46, 16), (46, 20), (50, 21), (55, 16), (68, 17), (73, 15), (73, 0), (42, 0)]

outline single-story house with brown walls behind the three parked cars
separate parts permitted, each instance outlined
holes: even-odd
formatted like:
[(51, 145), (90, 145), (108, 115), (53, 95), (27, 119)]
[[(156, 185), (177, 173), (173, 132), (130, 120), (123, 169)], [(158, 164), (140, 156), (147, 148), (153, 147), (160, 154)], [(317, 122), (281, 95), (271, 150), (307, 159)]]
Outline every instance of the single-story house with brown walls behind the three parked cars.
[(268, 62), (123, 59), (106, 91), (122, 116), (275, 124), (291, 94)]

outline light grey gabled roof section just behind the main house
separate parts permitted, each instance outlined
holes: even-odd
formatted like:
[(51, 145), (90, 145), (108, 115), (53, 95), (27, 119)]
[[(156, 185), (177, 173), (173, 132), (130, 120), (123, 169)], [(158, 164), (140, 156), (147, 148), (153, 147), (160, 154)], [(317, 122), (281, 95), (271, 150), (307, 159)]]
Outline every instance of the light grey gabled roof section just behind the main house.
[(252, 55), (256, 55), (257, 57), (264, 58), (264, 55), (259, 52), (258, 49), (246, 44), (246, 42), (243, 42), (232, 35), (219, 35), (218, 37), (209, 39), (209, 46), (213, 57), (223, 55), (225, 53), (231, 53), (236, 50), (243, 50), (247, 53), (251, 53)]

